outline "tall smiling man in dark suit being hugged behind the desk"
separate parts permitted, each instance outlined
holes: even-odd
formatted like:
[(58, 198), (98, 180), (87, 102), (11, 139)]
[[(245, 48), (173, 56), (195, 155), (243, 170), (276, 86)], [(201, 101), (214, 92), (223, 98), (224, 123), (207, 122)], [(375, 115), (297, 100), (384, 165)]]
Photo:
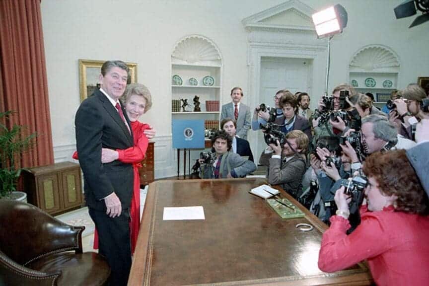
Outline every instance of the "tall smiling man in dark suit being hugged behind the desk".
[(127, 78), (124, 62), (105, 62), (99, 77), (101, 88), (80, 104), (75, 117), (85, 200), (98, 230), (99, 253), (112, 270), (110, 285), (127, 285), (131, 268), (129, 208), (133, 166), (118, 160), (101, 163), (101, 149), (133, 146), (130, 121), (118, 100)]

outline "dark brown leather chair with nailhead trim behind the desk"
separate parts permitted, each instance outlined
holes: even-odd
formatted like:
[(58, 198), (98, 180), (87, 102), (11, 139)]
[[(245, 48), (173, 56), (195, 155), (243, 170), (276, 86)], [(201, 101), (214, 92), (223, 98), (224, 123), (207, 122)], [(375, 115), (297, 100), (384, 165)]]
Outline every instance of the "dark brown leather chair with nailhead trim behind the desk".
[(84, 229), (33, 205), (0, 200), (0, 286), (107, 285), (106, 259), (82, 253)]

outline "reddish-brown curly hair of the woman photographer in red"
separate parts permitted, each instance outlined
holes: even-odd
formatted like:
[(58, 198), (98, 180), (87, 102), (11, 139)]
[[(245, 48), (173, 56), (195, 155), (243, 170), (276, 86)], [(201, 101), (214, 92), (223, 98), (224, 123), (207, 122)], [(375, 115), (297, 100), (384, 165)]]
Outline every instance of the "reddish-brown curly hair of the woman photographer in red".
[(383, 194), (398, 197), (396, 211), (428, 214), (428, 196), (405, 150), (375, 152), (366, 158), (362, 170), (377, 181)]

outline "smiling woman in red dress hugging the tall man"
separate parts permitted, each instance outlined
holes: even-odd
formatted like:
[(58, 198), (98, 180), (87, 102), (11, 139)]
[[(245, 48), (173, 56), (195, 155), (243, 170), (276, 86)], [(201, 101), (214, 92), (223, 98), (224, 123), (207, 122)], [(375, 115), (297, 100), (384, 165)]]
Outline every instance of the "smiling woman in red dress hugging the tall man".
[[(132, 163), (134, 171), (134, 190), (130, 206), (130, 237), (131, 251), (136, 249), (137, 237), (140, 229), (140, 162), (145, 158), (149, 139), (155, 136), (155, 131), (148, 124), (138, 121), (139, 117), (146, 113), (152, 106), (150, 91), (143, 84), (132, 83), (127, 86), (121, 102), (125, 106), (128, 118), (133, 130), (134, 146), (124, 150), (112, 150), (103, 148), (101, 152), (101, 162), (109, 163), (120, 160), (124, 163)], [(73, 154), (77, 159), (77, 154)], [(94, 249), (98, 249), (98, 232), (94, 233)]]

